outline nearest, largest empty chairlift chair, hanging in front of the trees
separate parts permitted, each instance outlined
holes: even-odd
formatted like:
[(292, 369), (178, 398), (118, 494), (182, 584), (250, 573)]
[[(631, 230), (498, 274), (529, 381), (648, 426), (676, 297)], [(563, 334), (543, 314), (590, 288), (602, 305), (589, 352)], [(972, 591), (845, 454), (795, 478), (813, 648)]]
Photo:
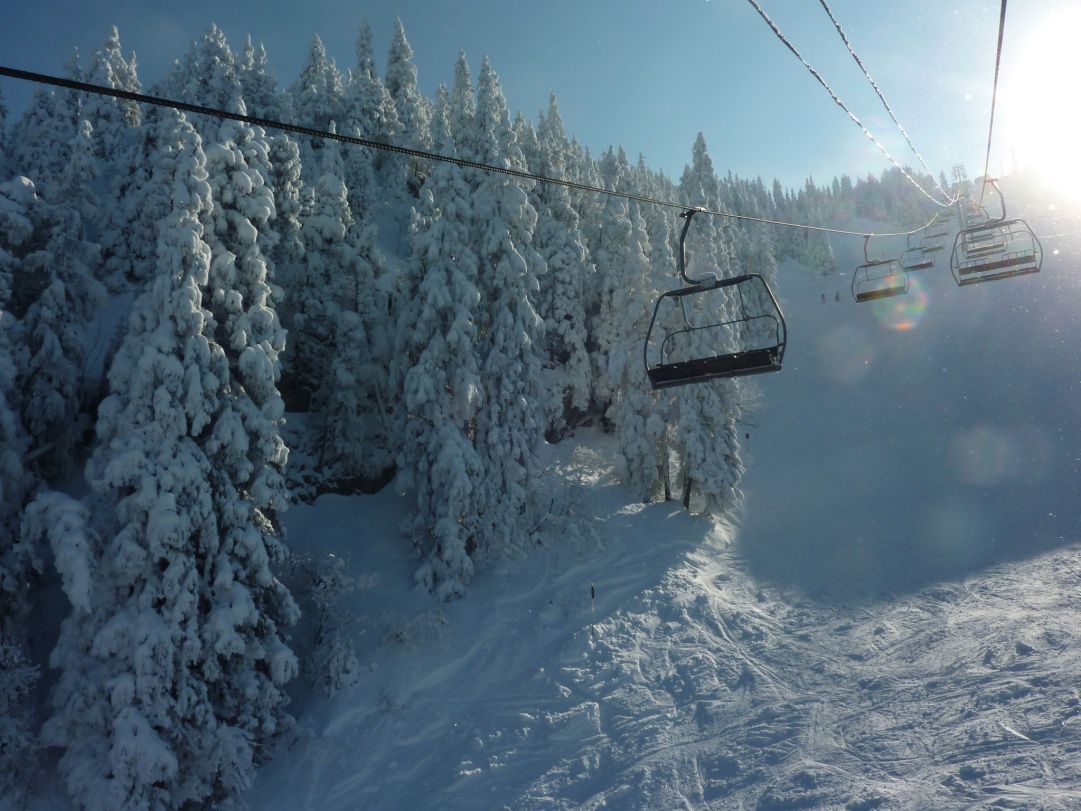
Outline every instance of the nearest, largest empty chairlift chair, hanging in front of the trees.
[(688, 287), (657, 298), (643, 349), (653, 388), (705, 383), (780, 370), (787, 328), (780, 306), (758, 274), (731, 279), (686, 275), (684, 242), (697, 209), (679, 240), (679, 274)]

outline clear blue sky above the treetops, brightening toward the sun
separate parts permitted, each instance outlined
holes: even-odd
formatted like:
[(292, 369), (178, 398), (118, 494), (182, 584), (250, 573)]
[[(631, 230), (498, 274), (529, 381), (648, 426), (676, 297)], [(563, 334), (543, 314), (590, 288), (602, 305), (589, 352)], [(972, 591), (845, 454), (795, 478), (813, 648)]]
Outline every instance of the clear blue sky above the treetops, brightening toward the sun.
[[(915, 165), (820, 5), (761, 2), (891, 152)], [(831, 0), (830, 6), (929, 165), (948, 173), (963, 162), (970, 175), (979, 174), (999, 3)], [(382, 70), (396, 15), (427, 93), (452, 80), (459, 49), (475, 76), (486, 54), (512, 110), (535, 116), (555, 91), (568, 129), (595, 154), (622, 144), (632, 159), (642, 152), (675, 178), (698, 131), (718, 171), (778, 177), (788, 186), (809, 175), (827, 181), (890, 165), (744, 0), (21, 1), (5, 13), (0, 64), (59, 72), (71, 49), (88, 55), (116, 24), (124, 51), (137, 54), (146, 88), (217, 23), (236, 49), (245, 34), (262, 40), (288, 85), (316, 34), (348, 68), (364, 18)], [(1076, 96), (1067, 82), (1081, 76), (1078, 35), (1077, 0), (1011, 4), (992, 174), (1010, 171), (1015, 155), (1044, 169), (1072, 155), (1081, 121), (1060, 99)], [(28, 87), (2, 82), (12, 112), (21, 111)], [(1081, 174), (1081, 161), (1072, 163)]]

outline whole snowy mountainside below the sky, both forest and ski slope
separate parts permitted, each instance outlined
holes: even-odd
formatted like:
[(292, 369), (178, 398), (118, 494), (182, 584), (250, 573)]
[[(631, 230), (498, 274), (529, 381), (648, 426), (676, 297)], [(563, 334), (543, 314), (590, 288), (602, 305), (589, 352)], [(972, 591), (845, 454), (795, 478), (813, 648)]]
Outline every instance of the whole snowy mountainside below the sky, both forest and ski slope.
[[(1064, 801), (1067, 254), (855, 306), (806, 226), (930, 174), (677, 182), (387, 44), (0, 103), (0, 806)], [(746, 274), (784, 372), (653, 390), (654, 327), (776, 361)]]

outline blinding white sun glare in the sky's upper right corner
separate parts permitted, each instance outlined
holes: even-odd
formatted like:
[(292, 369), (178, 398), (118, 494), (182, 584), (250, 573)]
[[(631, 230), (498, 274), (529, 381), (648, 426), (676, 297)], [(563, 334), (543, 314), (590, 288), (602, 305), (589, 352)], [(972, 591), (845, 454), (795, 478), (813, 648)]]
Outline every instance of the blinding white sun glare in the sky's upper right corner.
[(1081, 79), (1079, 31), (1081, 8), (1059, 6), (1047, 14), (1017, 45), (1016, 56), (1003, 57), (999, 101), (1009, 162), (1036, 172), (1073, 201), (1081, 201), (1081, 105), (1075, 90)]

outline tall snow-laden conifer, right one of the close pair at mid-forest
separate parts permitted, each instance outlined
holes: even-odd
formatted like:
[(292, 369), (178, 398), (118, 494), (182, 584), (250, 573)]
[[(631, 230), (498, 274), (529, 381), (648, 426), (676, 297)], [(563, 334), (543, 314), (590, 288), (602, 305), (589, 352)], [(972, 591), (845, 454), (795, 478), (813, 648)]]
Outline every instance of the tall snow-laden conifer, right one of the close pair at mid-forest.
[[(503, 89), (488, 58), (477, 84), (477, 159), (523, 169)], [(531, 484), (545, 408), (540, 388), (544, 321), (533, 307), (544, 260), (532, 245), (536, 211), (522, 186), (486, 174), (472, 195), (482, 318), (484, 397), (477, 415), (477, 452), (484, 468), (478, 495), (482, 554), (520, 549), (535, 516)]]

